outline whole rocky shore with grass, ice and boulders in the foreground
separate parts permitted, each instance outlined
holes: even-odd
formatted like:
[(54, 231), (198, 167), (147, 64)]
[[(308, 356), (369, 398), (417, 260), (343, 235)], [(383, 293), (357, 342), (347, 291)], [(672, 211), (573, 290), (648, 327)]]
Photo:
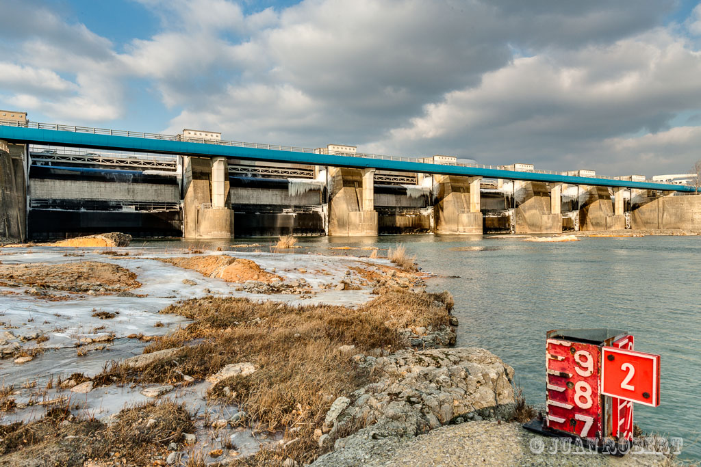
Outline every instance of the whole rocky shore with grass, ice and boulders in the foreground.
[[(447, 292), (426, 292), (429, 276), (413, 263), (109, 251), (0, 252), (0, 324), (7, 337), (0, 465), (562, 465), (576, 459), (531, 454), (532, 435), (514, 422), (513, 369), (484, 349), (453, 347), (453, 300)], [(42, 262), (32, 260), (35, 254)], [(70, 287), (53, 273), (67, 265), (74, 271)], [(104, 284), (93, 290), (83, 282), (97, 270)], [(90, 310), (93, 302), (102, 307)], [(128, 304), (135, 309), (127, 311)], [(50, 318), (66, 306), (85, 309), (70, 321), (92, 320), (89, 333)], [(86, 369), (52, 366), (68, 352), (77, 352), (76, 368), (82, 361)], [(640, 465), (669, 462), (634, 461), (641, 459)], [(617, 461), (597, 455), (586, 462)]]

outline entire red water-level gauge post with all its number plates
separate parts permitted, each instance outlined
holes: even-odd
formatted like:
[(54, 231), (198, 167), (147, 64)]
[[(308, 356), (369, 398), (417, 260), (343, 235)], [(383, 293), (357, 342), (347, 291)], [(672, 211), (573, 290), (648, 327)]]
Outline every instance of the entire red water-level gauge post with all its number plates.
[(548, 331), (545, 417), (524, 428), (580, 438), (599, 449), (613, 442), (629, 447), (633, 402), (658, 405), (660, 397), (660, 357), (634, 351), (633, 344), (622, 330)]

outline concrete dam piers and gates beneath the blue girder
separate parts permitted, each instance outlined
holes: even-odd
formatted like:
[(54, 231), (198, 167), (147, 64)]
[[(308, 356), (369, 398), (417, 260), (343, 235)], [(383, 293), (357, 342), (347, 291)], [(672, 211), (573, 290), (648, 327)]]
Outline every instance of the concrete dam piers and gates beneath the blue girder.
[(701, 196), (0, 144), (0, 237), (698, 229)]

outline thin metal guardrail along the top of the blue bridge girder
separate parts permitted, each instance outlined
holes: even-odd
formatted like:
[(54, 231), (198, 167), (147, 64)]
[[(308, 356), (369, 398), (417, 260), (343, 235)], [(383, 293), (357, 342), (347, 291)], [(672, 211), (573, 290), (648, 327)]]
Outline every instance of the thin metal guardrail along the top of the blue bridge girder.
[[(378, 159), (378, 160), (394, 160), (399, 162), (425, 162), (427, 158), (409, 158), (403, 156), (395, 155), (379, 155), (371, 153), (340, 153), (337, 151), (328, 151), (326, 148), (303, 148), (301, 146), (280, 146), (278, 144), (260, 144), (260, 143), (246, 143), (243, 141), (223, 141), (216, 139), (198, 139), (198, 138), (186, 138), (180, 137), (179, 135), (171, 134), (158, 134), (158, 133), (144, 133), (144, 132), (130, 132), (125, 130), (109, 130), (106, 128), (93, 128), (93, 127), (81, 127), (78, 125), (60, 125), (57, 123), (39, 123), (39, 122), (18, 122), (15, 120), (0, 120), (0, 125), (12, 126), (12, 127), (25, 127), (25, 128), (36, 128), (38, 130), (55, 130), (64, 132), (74, 132), (74, 133), (88, 133), (88, 134), (104, 134), (109, 136), (120, 136), (120, 137), (131, 137), (131, 138), (144, 138), (144, 139), (159, 139), (164, 141), (186, 141), (190, 143), (203, 143), (203, 144), (215, 144), (219, 146), (236, 146), (240, 148), (255, 148), (255, 149), (268, 149), (273, 151), (290, 151), (297, 153), (313, 153), (322, 155), (342, 155), (351, 158), (366, 158), (366, 159)], [(482, 164), (464, 164), (455, 163), (448, 164), (446, 162), (439, 163), (437, 165), (450, 165), (458, 167), (474, 167), (478, 169), (503, 169), (503, 166), (497, 165), (482, 165)], [(547, 175), (562, 175), (562, 172), (549, 171), (549, 170), (533, 170), (531, 171), (536, 174), (547, 174)], [(597, 175), (596, 179), (608, 179), (616, 180), (616, 177)], [(646, 183), (659, 183), (665, 184), (659, 181), (646, 180)]]

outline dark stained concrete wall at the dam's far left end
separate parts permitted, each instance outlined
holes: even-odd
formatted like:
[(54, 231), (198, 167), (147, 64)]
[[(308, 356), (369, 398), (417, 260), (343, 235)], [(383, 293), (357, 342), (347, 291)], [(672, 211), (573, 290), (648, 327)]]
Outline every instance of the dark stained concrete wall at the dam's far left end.
[(0, 141), (0, 239), (22, 242), (27, 237), (25, 146)]

